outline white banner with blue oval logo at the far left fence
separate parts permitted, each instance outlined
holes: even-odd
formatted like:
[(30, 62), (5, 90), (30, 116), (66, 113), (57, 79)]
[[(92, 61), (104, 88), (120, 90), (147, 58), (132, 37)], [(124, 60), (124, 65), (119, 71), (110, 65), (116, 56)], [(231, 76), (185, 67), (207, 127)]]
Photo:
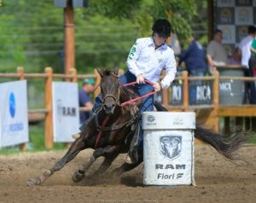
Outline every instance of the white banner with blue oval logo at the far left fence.
[(0, 147), (28, 142), (26, 80), (0, 84)]

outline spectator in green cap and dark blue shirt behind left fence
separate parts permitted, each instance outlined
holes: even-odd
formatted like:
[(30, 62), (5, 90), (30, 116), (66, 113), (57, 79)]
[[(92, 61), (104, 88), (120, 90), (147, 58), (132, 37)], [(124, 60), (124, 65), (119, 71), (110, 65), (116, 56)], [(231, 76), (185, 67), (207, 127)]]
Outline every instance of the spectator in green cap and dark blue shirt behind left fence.
[[(83, 87), (79, 90), (79, 107), (93, 107), (90, 99), (90, 93), (94, 91), (95, 80), (93, 78), (84, 79)], [(80, 124), (84, 124), (86, 119), (89, 119), (90, 112), (80, 112)]]

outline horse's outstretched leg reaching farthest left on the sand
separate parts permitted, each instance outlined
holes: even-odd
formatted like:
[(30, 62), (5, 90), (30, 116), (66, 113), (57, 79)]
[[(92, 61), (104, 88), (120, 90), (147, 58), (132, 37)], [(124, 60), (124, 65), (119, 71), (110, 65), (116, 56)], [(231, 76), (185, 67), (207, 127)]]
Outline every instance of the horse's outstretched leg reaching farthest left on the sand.
[(83, 138), (77, 139), (71, 147), (68, 149), (67, 154), (65, 154), (52, 168), (49, 170), (44, 171), (44, 173), (35, 178), (31, 178), (27, 181), (28, 186), (32, 185), (39, 185), (41, 183), (44, 183), (44, 181), (48, 178), (51, 177), (55, 171), (61, 170), (61, 168), (64, 167), (64, 165), (67, 164), (70, 160), (72, 160), (81, 150), (85, 148), (85, 144), (83, 141)]

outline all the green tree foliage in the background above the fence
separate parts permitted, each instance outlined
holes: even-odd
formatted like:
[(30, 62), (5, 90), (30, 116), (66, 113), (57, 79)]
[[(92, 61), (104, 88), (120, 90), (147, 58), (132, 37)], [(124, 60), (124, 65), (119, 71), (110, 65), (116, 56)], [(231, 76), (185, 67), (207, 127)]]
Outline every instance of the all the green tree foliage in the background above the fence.
[[(16, 67), (26, 67), (26, 73), (42, 73), (44, 67), (63, 72), (63, 9), (55, 8), (52, 0), (8, 0), (0, 5), (1, 72), (15, 72)], [(158, 18), (171, 20), (173, 32), (183, 41), (191, 33), (195, 5), (195, 0), (95, 0), (89, 8), (75, 9), (79, 73), (125, 68), (131, 45), (150, 36)]]

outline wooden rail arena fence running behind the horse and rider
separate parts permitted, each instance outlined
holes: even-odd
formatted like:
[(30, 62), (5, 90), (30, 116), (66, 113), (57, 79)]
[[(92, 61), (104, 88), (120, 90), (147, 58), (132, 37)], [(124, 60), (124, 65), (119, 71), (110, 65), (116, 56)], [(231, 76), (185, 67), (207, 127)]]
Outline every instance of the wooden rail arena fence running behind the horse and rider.
[[(0, 73), (0, 78), (15, 78), (18, 80), (32, 78), (42, 78), (44, 79), (44, 108), (40, 109), (29, 109), (28, 114), (33, 113), (42, 113), (44, 114), (44, 140), (45, 148), (53, 148), (53, 120), (52, 120), (52, 82), (55, 79), (62, 79), (69, 82), (77, 83), (79, 80), (84, 78), (95, 78), (96, 86), (100, 83), (100, 76), (96, 72), (93, 74), (78, 74), (76, 69), (70, 69), (68, 74), (53, 73), (51, 67), (46, 67), (44, 73), (25, 73), (23, 67), (17, 68), (17, 73)], [(224, 128), (225, 131), (230, 131), (230, 117), (238, 117), (238, 121), (241, 121), (241, 118), (253, 118), (256, 117), (256, 105), (250, 104), (239, 104), (239, 105), (222, 105), (219, 103), (219, 84), (223, 80), (232, 80), (232, 81), (256, 81), (256, 78), (248, 77), (230, 77), (230, 76), (219, 76), (218, 71), (215, 71), (212, 76), (206, 77), (189, 77), (187, 71), (183, 71), (180, 76), (177, 76), (172, 86), (163, 90), (157, 100), (162, 102), (170, 111), (177, 112), (188, 112), (193, 111), (197, 114), (197, 121), (207, 125), (212, 128), (214, 131), (218, 131), (218, 118), (224, 117)], [(189, 92), (191, 91), (191, 82), (200, 81), (206, 85), (210, 85), (211, 92), (208, 94), (207, 89), (205, 89), (205, 94), (207, 96), (202, 96), (203, 98), (207, 97), (205, 101), (191, 103), (189, 102)], [(181, 100), (177, 101), (174, 98), (174, 85), (179, 85), (181, 89), (179, 93)], [(200, 85), (199, 85), (200, 86)], [(190, 90), (189, 90), (190, 88)], [(204, 90), (202, 90), (204, 91)], [(99, 88), (95, 91), (95, 96), (98, 95)], [(200, 97), (200, 96), (199, 96)], [(89, 111), (90, 109), (86, 107), (80, 107), (80, 111)], [(247, 120), (246, 120), (247, 121)], [(246, 125), (248, 122), (246, 122)], [(253, 125), (251, 125), (253, 127)], [(249, 128), (249, 127), (248, 127)], [(20, 149), (26, 149), (26, 144), (20, 144)]]

